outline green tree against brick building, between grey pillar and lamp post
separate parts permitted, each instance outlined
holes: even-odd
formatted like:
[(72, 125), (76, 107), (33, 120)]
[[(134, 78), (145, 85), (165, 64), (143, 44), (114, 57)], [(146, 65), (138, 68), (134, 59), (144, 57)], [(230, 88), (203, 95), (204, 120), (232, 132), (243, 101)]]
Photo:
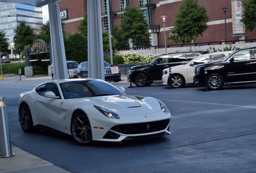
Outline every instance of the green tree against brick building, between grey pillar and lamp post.
[(151, 46), (149, 24), (143, 12), (135, 6), (127, 6), (120, 24), (120, 34), (124, 39), (132, 39), (133, 45)]

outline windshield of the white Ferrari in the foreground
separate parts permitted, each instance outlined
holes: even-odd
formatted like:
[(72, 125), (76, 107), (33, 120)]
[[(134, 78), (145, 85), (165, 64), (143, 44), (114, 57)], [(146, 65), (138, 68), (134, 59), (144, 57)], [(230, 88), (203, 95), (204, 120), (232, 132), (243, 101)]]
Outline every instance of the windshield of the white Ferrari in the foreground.
[(124, 95), (125, 93), (101, 80), (77, 80), (60, 83), (64, 99)]

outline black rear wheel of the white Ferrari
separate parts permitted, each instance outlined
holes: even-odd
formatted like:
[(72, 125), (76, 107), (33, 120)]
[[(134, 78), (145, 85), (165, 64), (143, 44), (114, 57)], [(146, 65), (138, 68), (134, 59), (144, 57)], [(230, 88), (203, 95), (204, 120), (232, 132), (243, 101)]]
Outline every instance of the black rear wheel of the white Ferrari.
[(32, 133), (36, 131), (33, 125), (31, 111), (27, 104), (24, 104), (21, 106), (19, 118), (20, 118), (21, 128), (23, 131), (25, 131), (26, 133)]

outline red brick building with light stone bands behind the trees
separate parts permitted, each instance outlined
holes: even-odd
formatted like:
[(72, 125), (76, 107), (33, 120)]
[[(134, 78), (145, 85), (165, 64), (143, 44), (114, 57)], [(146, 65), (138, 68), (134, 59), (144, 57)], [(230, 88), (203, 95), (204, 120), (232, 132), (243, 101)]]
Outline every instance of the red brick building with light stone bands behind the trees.
[[(152, 32), (152, 45), (164, 45), (164, 26), (160, 16), (169, 16), (165, 20), (166, 36), (170, 33), (170, 28), (175, 21), (175, 15), (178, 12), (183, 0), (110, 0), (111, 14), (111, 30), (113, 26), (119, 25), (126, 6), (137, 6), (143, 10), (149, 22), (149, 30)], [(198, 0), (198, 4), (205, 6), (210, 16), (209, 28), (198, 36), (196, 42), (219, 42), (225, 40), (225, 13), (223, 7), (227, 7), (226, 12), (226, 28), (227, 40), (244, 40), (256, 38), (256, 32), (244, 31), (243, 34), (234, 34), (234, 4), (239, 5), (237, 0)], [(60, 10), (68, 10), (68, 19), (64, 20), (64, 30), (67, 33), (76, 33), (77, 26), (83, 18), (83, 14), (87, 13), (87, 0), (62, 0), (58, 2)], [(242, 9), (242, 8), (241, 8)], [(101, 0), (101, 21), (102, 31), (107, 31), (107, 0)], [(238, 26), (236, 26), (238, 27)], [(232, 36), (233, 35), (233, 36)], [(171, 44), (170, 40), (166, 40), (167, 45)]]

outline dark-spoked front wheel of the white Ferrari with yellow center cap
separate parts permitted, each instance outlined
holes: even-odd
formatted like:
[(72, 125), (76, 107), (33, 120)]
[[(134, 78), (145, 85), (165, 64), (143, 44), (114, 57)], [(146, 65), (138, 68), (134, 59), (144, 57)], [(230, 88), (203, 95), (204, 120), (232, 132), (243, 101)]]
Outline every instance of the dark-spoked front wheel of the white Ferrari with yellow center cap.
[(71, 121), (71, 135), (80, 145), (88, 145), (93, 139), (90, 121), (85, 113), (76, 114)]

